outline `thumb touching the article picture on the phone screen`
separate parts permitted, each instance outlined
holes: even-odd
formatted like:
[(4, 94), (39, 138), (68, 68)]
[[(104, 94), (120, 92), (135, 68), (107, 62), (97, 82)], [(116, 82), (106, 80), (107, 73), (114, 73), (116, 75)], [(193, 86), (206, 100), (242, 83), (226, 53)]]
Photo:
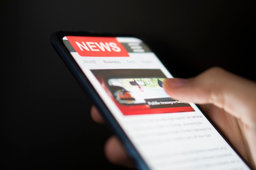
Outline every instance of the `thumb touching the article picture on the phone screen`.
[[(213, 67), (189, 79), (170, 78), (164, 90), (174, 99), (196, 104), (214, 104), (255, 126), (256, 83)], [(246, 113), (246, 114), (245, 114)]]

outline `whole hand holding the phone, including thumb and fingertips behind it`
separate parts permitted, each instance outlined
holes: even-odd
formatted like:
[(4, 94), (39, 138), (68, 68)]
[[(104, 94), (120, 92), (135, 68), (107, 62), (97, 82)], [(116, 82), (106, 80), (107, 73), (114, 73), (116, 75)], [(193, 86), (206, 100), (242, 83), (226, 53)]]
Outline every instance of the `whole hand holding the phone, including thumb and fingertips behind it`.
[[(189, 79), (166, 79), (163, 87), (173, 99), (200, 104), (249, 165), (256, 167), (255, 82), (213, 67)], [(91, 115), (104, 122), (94, 106)], [(105, 153), (112, 163), (135, 167), (116, 137), (106, 142)]]

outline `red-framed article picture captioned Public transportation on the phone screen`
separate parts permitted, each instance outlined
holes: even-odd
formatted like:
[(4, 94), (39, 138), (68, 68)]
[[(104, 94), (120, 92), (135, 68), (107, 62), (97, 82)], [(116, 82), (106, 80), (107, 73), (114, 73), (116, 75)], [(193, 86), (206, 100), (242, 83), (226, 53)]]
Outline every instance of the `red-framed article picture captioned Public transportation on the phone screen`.
[(91, 71), (124, 115), (195, 111), (165, 93), (162, 82), (166, 76), (159, 69)]

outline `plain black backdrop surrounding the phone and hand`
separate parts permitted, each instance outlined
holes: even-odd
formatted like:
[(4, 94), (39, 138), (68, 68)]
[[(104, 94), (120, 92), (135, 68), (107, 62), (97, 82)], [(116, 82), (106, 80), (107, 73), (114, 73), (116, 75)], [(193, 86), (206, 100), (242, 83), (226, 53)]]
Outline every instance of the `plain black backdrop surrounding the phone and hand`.
[(135, 34), (178, 77), (221, 66), (256, 80), (253, 2), (1, 0), (0, 169), (123, 168), (104, 157), (112, 132), (92, 121), (92, 103), (49, 42), (54, 31)]

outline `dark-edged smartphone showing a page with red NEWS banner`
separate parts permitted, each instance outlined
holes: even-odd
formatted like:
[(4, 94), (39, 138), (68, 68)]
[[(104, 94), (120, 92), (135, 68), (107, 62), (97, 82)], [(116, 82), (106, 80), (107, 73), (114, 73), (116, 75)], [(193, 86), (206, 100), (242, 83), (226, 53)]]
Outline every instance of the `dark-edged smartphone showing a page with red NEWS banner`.
[(57, 31), (50, 42), (139, 170), (249, 170), (197, 104), (172, 99), (173, 78), (137, 36)]

